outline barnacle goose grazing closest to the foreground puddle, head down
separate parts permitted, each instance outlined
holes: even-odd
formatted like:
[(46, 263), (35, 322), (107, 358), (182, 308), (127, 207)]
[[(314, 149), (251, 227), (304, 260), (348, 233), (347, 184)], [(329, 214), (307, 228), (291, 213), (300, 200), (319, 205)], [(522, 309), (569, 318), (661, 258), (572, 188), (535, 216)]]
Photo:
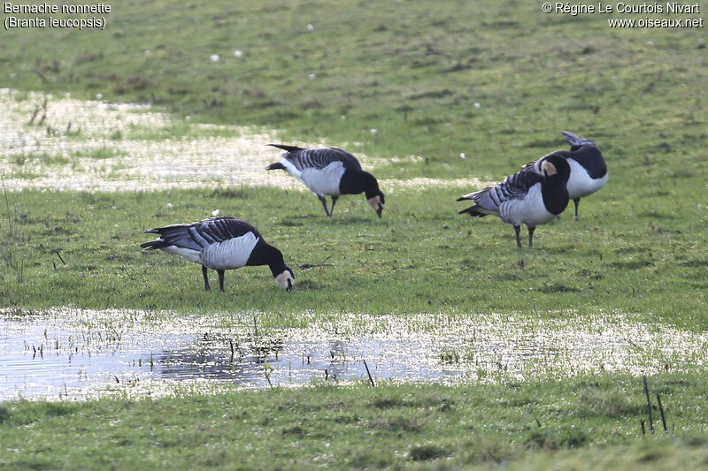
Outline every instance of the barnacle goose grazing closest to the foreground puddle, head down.
[(212, 291), (206, 269), (219, 273), (219, 289), (224, 291), (224, 270), (247, 265), (268, 265), (282, 289), (290, 291), (293, 287), (295, 276), (283, 262), (281, 251), (266, 243), (258, 229), (242, 219), (210, 217), (197, 223), (172, 224), (145, 232), (159, 236), (140, 247), (147, 250), (159, 248), (178, 254), (189, 262), (200, 263), (206, 291)]

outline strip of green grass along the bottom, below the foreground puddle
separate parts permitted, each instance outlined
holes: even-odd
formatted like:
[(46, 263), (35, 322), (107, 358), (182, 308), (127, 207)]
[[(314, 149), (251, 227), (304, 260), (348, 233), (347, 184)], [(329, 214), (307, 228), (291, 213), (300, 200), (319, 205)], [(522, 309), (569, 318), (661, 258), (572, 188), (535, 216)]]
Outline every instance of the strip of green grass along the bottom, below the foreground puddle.
[[(0, 406), (7, 469), (699, 468), (704, 373), (650, 378), (670, 431), (642, 435), (642, 380), (579, 377), (466, 387), (366, 383), (168, 399)], [(150, 420), (146, 420), (150, 417)], [(189, 430), (186, 433), (184, 430)], [(346, 437), (346, 440), (338, 437)], [(623, 456), (617, 456), (619, 450)], [(59, 452), (61, 451), (61, 452)], [(679, 466), (681, 465), (681, 466)]]

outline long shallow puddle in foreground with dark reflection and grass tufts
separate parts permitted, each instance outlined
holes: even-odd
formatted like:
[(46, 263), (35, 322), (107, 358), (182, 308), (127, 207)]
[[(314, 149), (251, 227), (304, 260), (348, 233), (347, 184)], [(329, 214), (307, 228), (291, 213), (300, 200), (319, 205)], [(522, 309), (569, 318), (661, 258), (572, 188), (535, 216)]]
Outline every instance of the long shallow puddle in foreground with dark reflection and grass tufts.
[[(523, 381), (582, 372), (651, 374), (702, 365), (708, 336), (617, 314), (331, 315), (263, 330), (258, 314), (0, 310), (0, 400), (84, 400), (314, 381)], [(366, 361), (366, 366), (365, 366)]]

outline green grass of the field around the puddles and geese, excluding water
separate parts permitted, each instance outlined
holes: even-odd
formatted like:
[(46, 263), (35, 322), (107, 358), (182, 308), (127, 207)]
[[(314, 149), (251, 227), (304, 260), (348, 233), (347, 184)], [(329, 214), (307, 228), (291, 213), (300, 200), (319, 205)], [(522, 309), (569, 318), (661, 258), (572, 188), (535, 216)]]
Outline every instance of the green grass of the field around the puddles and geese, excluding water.
[[(392, 182), (382, 188), (387, 211), (379, 219), (363, 196), (349, 196), (329, 219), (312, 194), (234, 182), (110, 193), (4, 185), (0, 308), (257, 312), (273, 329), (342, 313), (500, 313), (539, 323), (569, 316), (581, 327), (603, 312), (704, 333), (704, 29), (612, 29), (608, 15), (546, 15), (540, 3), (490, 0), (112, 7), (103, 32), (4, 30), (0, 86), (151, 103), (175, 119), (117, 129), (107, 142), (140, 139), (147, 148), (239, 135), (195, 125), (213, 123), (265, 126), (283, 142), (350, 148), (376, 163), (377, 178)], [(77, 146), (96, 140), (87, 129), (29, 124), (30, 115), (27, 134), (46, 127), (48, 136), (60, 133)], [(539, 227), (533, 249), (516, 248), (511, 226), (498, 219), (457, 214), (465, 206), (455, 199), (473, 188), (393, 184), (503, 179), (565, 148), (562, 130), (600, 145), (610, 180), (581, 201), (579, 222), (571, 209)], [(110, 146), (87, 149), (18, 156), (0, 143), (0, 169), (7, 181), (81, 172), (93, 163), (102, 173), (125, 170), (104, 165), (123, 156)], [(289, 293), (266, 268), (227, 272), (226, 293), (204, 292), (195, 264), (138, 248), (150, 239), (145, 229), (214, 209), (256, 224), (294, 269), (331, 266), (296, 269)], [(708, 463), (708, 435), (704, 358), (696, 360), (697, 368), (676, 362), (666, 373), (652, 371), (668, 434), (642, 435), (641, 378), (621, 373), (453, 387), (317, 384), (168, 399), (5, 402), (0, 465), (699, 469)]]

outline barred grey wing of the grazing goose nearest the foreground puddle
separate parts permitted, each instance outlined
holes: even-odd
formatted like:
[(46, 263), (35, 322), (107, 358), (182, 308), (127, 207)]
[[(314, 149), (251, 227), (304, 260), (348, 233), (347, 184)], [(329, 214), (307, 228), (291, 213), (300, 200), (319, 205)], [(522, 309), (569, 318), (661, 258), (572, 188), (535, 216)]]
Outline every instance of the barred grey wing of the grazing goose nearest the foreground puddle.
[(159, 239), (141, 244), (140, 247), (149, 250), (175, 246), (198, 251), (212, 244), (241, 237), (247, 232), (260, 237), (258, 229), (252, 224), (230, 216), (209, 217), (196, 223), (172, 224), (145, 232), (159, 234)]

